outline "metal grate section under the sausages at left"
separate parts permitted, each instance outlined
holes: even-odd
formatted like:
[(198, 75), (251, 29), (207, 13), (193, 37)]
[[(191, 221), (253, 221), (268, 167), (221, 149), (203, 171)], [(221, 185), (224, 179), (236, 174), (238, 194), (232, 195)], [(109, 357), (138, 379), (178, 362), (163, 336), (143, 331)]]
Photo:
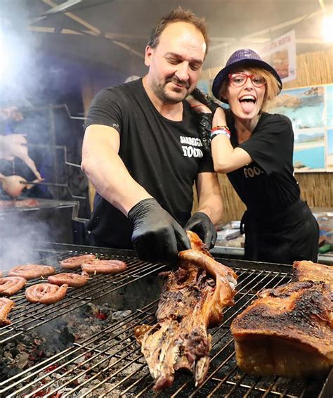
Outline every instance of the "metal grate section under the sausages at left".
[[(56, 272), (75, 272), (70, 269), (60, 269), (59, 262), (66, 257), (86, 254), (87, 252), (70, 250), (66, 252), (39, 252), (39, 259), (37, 264), (52, 265)], [(119, 287), (124, 287), (129, 283), (133, 283), (139, 278), (143, 278), (152, 272), (163, 269), (165, 265), (162, 264), (148, 264), (138, 260), (133, 256), (126, 255), (105, 255), (100, 252), (89, 252), (96, 254), (100, 259), (122, 259), (127, 264), (126, 271), (121, 274), (114, 275), (91, 275), (89, 283), (81, 288), (68, 288), (67, 294), (63, 300), (51, 305), (32, 304), (25, 299), (25, 293), (21, 290), (17, 295), (12, 296), (11, 300), (15, 301), (10, 319), (11, 325), (0, 328), (0, 344), (9, 341), (27, 330), (32, 330), (43, 323), (51, 321), (52, 319), (63, 316), (68, 312), (82, 307), (87, 302), (91, 302), (100, 297), (103, 297)], [(32, 261), (30, 261), (32, 262)], [(77, 271), (79, 272), (79, 271)], [(6, 272), (4, 273), (6, 276)], [(45, 280), (33, 279), (28, 281), (26, 287), (36, 283), (46, 282)]]

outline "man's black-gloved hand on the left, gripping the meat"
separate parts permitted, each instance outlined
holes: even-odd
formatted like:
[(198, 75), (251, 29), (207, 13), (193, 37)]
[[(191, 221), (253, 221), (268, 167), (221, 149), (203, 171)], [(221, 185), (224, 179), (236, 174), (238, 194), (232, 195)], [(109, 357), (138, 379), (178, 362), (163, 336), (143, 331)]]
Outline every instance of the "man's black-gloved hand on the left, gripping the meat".
[(174, 265), (178, 252), (190, 249), (183, 228), (155, 199), (143, 199), (129, 210), (132, 243), (139, 258)]

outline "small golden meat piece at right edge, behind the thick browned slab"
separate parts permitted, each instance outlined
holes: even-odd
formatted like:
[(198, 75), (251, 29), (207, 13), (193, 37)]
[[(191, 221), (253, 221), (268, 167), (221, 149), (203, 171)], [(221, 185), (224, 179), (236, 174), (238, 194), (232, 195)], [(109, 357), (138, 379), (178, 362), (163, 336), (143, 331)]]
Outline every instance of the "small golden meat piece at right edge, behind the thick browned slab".
[(294, 281), (324, 281), (333, 290), (333, 267), (312, 261), (295, 261), (293, 264)]

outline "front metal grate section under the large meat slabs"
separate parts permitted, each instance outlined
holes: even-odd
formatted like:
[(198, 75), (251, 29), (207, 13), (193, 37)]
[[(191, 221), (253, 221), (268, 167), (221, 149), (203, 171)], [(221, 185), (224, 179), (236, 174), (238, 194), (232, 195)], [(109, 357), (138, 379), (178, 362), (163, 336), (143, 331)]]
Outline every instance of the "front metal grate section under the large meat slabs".
[[(228, 265), (232, 263), (230, 261)], [(256, 378), (237, 368), (230, 334), (231, 321), (254, 299), (256, 292), (287, 283), (290, 275), (288, 272), (264, 269), (235, 268), (235, 271), (239, 276), (235, 306), (226, 309), (223, 323), (210, 330), (213, 340), (206, 380), (196, 388), (192, 375), (178, 373), (174, 384), (159, 397), (332, 396), (332, 372), (327, 379), (322, 377), (300, 381), (278, 377)], [(141, 348), (133, 337), (133, 328), (142, 323), (155, 323), (156, 309), (157, 300), (81, 344), (75, 343), (0, 383), (0, 393), (8, 398), (155, 397), (152, 378)]]

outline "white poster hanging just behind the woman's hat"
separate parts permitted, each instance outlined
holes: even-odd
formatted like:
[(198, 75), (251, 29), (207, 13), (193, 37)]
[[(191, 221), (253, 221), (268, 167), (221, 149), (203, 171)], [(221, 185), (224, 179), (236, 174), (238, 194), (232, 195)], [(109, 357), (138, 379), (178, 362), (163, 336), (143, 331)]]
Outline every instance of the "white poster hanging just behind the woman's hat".
[(282, 83), (296, 79), (296, 41), (295, 31), (291, 30), (264, 44), (259, 51), (263, 60), (273, 66)]

